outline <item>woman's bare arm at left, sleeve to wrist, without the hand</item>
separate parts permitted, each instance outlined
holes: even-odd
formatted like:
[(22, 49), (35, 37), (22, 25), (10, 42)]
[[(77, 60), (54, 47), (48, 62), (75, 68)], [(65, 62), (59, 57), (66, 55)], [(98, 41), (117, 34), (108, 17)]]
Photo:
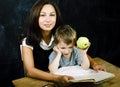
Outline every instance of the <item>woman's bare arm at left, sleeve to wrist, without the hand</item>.
[(49, 74), (34, 67), (33, 51), (31, 48), (22, 46), (22, 58), (27, 76), (44, 80), (54, 80), (52, 74)]

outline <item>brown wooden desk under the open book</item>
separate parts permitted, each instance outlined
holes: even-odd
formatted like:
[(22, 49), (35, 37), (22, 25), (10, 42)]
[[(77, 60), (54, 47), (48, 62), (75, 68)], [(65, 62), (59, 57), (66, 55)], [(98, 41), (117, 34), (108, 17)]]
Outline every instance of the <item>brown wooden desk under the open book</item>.
[[(120, 68), (100, 58), (94, 58), (94, 60), (98, 64), (105, 66), (108, 72), (115, 74), (115, 77), (101, 84), (75, 83), (67, 87), (120, 87)], [(15, 87), (43, 87), (43, 85), (54, 84), (54, 83), (32, 79), (29, 77), (24, 77), (13, 80), (13, 84), (15, 85)], [(47, 86), (47, 87), (53, 87), (53, 86)]]

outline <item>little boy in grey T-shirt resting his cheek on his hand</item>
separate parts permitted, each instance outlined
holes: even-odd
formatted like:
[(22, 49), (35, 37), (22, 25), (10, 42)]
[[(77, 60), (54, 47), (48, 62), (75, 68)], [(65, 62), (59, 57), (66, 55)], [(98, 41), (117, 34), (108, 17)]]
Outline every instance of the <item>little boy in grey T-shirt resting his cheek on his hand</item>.
[(49, 70), (54, 73), (63, 66), (80, 65), (83, 69), (90, 67), (89, 59), (85, 53), (75, 47), (76, 31), (69, 25), (57, 28), (54, 36), (55, 46), (49, 56)]

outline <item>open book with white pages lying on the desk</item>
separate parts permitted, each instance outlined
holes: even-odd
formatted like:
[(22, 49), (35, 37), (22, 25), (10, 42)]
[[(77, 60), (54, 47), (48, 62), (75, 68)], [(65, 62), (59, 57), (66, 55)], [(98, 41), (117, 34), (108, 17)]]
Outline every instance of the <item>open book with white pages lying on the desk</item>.
[(73, 76), (74, 80), (70, 80), (71, 82), (94, 82), (96, 84), (115, 77), (115, 75), (110, 72), (105, 71), (96, 72), (95, 70), (90, 68), (84, 70), (80, 66), (62, 67), (59, 68), (58, 71), (55, 72), (54, 74)]

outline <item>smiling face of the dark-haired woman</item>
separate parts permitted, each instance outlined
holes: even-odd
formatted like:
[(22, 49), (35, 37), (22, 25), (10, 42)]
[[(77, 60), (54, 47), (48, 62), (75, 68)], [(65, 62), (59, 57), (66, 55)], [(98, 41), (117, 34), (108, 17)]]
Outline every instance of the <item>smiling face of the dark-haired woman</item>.
[(50, 4), (43, 6), (38, 20), (39, 26), (44, 31), (51, 31), (56, 24), (56, 11)]

